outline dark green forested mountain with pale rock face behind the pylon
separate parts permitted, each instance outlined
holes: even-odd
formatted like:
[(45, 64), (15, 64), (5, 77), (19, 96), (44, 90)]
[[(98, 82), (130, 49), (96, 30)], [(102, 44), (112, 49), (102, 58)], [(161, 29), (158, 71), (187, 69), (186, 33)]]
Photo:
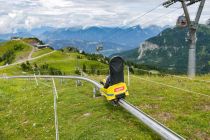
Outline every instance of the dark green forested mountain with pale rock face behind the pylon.
[[(157, 66), (176, 73), (186, 73), (189, 48), (187, 34), (187, 28), (168, 28), (144, 41), (140, 47), (117, 55), (139, 64)], [(196, 48), (197, 72), (210, 72), (210, 26), (199, 26)]]

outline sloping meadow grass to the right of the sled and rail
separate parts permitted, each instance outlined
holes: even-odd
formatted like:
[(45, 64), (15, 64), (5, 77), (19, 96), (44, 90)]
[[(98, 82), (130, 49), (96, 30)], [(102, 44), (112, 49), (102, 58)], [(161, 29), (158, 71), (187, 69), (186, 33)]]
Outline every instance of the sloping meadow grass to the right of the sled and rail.
[[(93, 77), (96, 79), (96, 77)], [(140, 76), (159, 83), (209, 95), (208, 83), (177, 78)], [(210, 78), (210, 77), (209, 77)], [(102, 79), (100, 77), (99, 79)], [(127, 79), (126, 79), (127, 80)], [(131, 77), (128, 101), (187, 139), (210, 137), (210, 96), (188, 93)]]

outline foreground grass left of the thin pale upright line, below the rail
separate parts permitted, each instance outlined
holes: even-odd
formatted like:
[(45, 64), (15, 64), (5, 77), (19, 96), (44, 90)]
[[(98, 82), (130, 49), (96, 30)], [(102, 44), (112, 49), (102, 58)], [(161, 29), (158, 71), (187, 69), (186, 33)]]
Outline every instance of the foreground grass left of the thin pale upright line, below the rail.
[[(37, 88), (33, 86), (32, 82), (3, 82), (1, 81), (0, 92), (1, 105), (3, 105), (1, 106), (0, 139), (35, 139), (37, 136), (42, 137), (45, 129), (38, 130), (37, 125), (42, 126), (42, 123), (49, 123), (48, 125), (51, 126), (49, 117), (52, 109), (51, 106), (45, 104), (45, 100), (48, 100), (47, 103), (49, 104), (52, 97), (48, 96), (46, 89), (43, 87)], [(32, 89), (37, 90), (31, 92)], [(40, 91), (42, 91), (42, 94), (40, 94)], [(38, 106), (39, 102), (43, 102), (42, 105)], [(41, 108), (44, 112), (41, 112)], [(42, 114), (45, 114), (44, 118), (41, 117)], [(33, 126), (35, 124), (36, 127)], [(53, 132), (52, 128), (47, 128), (51, 133)], [(37, 131), (37, 133), (32, 134), (34, 131)]]

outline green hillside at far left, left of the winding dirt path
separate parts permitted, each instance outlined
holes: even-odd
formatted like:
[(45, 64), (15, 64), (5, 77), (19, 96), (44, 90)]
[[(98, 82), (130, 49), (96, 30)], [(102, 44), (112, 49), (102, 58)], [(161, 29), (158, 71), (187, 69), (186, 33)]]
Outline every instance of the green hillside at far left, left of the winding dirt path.
[(32, 46), (22, 40), (13, 40), (0, 44), (0, 65), (11, 64), (28, 58)]

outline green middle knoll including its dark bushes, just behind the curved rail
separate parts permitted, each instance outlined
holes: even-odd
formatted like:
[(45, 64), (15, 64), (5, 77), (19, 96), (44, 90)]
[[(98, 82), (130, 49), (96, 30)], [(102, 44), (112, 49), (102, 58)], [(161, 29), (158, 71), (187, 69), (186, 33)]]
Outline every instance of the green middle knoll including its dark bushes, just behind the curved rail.
[[(42, 58), (30, 61), (31, 70), (24, 71), (21, 64), (16, 66), (9, 66), (8, 68), (0, 69), (0, 74), (7, 75), (20, 75), (20, 74), (51, 74), (53, 71), (59, 71), (62, 74), (75, 74), (78, 68), (85, 69), (87, 73), (107, 73), (107, 64), (101, 63), (100, 60), (90, 60), (86, 55), (79, 54), (76, 52), (63, 53), (62, 51), (56, 51), (50, 55)], [(36, 69), (35, 66), (39, 68)], [(47, 67), (47, 68), (46, 68)], [(32, 70), (34, 69), (34, 70)]]

